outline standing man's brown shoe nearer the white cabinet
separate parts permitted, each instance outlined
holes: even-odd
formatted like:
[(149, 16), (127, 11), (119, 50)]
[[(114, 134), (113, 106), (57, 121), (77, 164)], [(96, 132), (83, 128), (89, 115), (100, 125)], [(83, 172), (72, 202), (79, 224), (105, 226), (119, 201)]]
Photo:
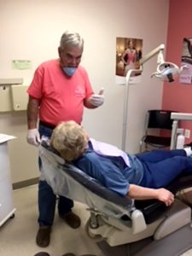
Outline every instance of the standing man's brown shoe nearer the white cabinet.
[(39, 247), (48, 247), (50, 242), (50, 226), (42, 226), (38, 229), (36, 243)]

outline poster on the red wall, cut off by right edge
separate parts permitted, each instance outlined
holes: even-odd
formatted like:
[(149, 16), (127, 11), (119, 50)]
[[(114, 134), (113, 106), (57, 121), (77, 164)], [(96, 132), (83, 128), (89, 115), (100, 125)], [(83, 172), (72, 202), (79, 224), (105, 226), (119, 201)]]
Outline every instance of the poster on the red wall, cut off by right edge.
[(183, 38), (181, 65), (186, 65), (179, 76), (181, 84), (192, 84), (192, 38)]

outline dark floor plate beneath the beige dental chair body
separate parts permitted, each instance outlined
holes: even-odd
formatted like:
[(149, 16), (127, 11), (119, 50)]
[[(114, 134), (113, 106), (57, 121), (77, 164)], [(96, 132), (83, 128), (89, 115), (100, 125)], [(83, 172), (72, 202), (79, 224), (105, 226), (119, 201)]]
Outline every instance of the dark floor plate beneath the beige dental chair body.
[(192, 227), (191, 224), (187, 224), (159, 241), (149, 237), (116, 247), (110, 247), (106, 241), (99, 241), (96, 244), (105, 256), (179, 256), (192, 247)]

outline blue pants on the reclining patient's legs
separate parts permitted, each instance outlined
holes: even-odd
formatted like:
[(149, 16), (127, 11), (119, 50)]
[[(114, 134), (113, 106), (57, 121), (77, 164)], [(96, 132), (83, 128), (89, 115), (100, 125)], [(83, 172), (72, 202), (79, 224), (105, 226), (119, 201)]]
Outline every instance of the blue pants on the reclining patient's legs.
[(192, 157), (183, 149), (154, 150), (137, 154), (143, 164), (143, 180), (140, 186), (148, 188), (166, 187), (180, 174), (192, 174)]

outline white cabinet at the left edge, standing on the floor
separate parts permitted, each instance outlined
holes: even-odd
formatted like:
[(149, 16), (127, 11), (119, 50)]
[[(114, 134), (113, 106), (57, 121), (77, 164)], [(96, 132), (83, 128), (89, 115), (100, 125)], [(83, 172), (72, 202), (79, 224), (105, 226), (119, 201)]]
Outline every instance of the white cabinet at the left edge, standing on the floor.
[(8, 152), (10, 138), (13, 137), (0, 134), (0, 226), (13, 217), (15, 212)]

